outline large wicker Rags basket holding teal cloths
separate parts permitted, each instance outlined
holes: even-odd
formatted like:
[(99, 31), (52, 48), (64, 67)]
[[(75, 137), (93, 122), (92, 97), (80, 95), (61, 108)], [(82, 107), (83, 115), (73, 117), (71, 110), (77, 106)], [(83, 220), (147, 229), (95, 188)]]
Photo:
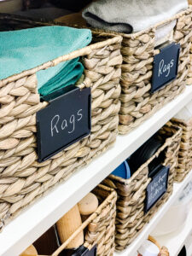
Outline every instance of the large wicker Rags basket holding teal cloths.
[[(0, 15), (0, 28), (43, 26), (41, 22), (27, 21), (10, 15)], [(2, 26), (1, 26), (2, 25)], [(100, 38), (100, 34), (93, 35)], [(80, 166), (101, 154), (118, 134), (120, 94), (120, 43), (113, 36), (84, 49), (63, 55), (39, 67), (0, 80), (0, 219), (1, 228), (20, 210), (56, 183), (66, 180)], [(36, 113), (47, 102), (40, 102), (36, 73), (53, 67), (61, 61), (82, 57), (84, 83), (91, 88), (90, 136), (74, 143), (43, 163), (37, 159)]]

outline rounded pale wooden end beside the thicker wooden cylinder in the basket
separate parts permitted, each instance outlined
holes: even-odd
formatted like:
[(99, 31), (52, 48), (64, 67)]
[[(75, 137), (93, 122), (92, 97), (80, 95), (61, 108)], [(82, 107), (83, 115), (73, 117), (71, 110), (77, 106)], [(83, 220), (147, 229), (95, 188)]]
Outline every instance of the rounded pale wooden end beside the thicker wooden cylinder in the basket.
[(93, 193), (85, 195), (84, 198), (78, 203), (82, 221), (86, 220), (86, 218), (88, 218), (91, 213), (96, 212), (98, 205), (99, 202), (96, 195)]

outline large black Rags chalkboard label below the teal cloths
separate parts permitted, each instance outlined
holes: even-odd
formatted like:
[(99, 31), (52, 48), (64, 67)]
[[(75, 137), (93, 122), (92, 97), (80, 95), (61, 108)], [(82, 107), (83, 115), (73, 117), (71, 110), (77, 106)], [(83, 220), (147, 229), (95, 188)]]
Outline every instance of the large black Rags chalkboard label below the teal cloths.
[(63, 92), (45, 96), (49, 106), (37, 113), (39, 162), (90, 134), (90, 88), (72, 86)]

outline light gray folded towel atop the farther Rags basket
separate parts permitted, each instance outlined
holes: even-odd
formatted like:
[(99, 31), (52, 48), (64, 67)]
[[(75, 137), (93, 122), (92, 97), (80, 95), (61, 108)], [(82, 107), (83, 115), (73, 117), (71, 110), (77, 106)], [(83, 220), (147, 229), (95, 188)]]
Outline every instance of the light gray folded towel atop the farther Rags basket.
[(187, 0), (97, 0), (83, 11), (90, 26), (138, 32), (188, 8)]

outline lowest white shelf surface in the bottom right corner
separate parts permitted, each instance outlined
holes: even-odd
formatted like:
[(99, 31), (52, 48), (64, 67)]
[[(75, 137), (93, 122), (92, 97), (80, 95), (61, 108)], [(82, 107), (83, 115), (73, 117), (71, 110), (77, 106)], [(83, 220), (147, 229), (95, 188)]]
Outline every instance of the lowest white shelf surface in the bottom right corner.
[(183, 225), (182, 229), (179, 229), (166, 236), (156, 236), (157, 241), (161, 245), (164, 245), (168, 248), (170, 255), (177, 256), (181, 251), (185, 240), (192, 232), (192, 208), (190, 209), (186, 223)]

